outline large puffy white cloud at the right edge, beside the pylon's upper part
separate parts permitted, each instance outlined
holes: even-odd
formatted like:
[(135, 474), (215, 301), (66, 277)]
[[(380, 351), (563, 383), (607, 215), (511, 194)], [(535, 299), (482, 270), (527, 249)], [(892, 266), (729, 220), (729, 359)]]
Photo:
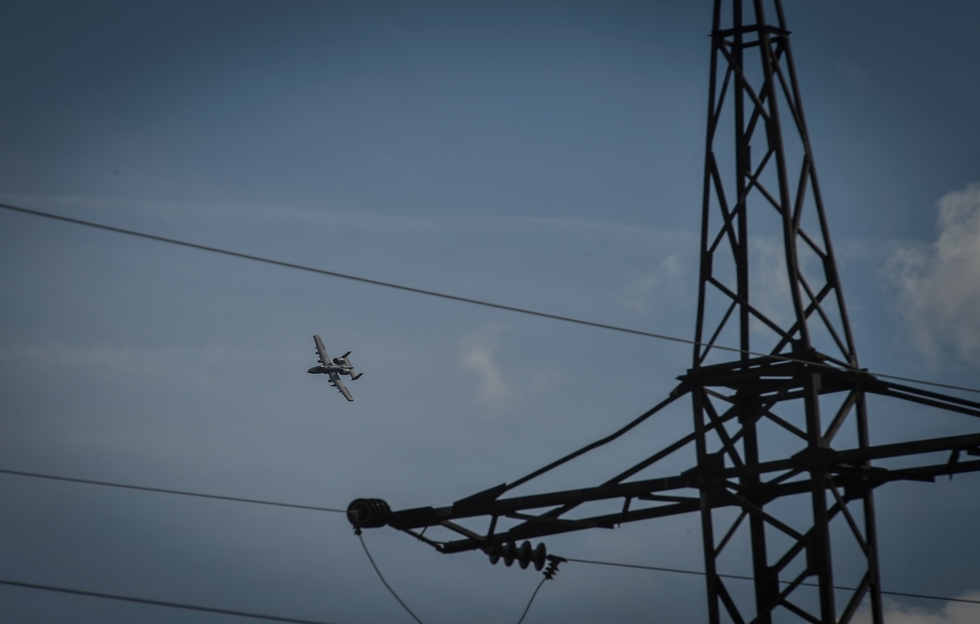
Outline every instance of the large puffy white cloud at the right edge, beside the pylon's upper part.
[(980, 183), (938, 203), (939, 237), (928, 248), (899, 249), (888, 271), (916, 346), (936, 357), (952, 346), (980, 361)]

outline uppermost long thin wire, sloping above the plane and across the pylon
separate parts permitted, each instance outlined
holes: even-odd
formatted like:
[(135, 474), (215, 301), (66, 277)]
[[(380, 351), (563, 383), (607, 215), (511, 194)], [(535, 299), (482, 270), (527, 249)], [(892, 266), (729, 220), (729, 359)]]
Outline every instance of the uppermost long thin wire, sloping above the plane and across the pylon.
[[(41, 210), (33, 210), (30, 208), (23, 208), (16, 205), (11, 205), (9, 203), (0, 203), (0, 208), (5, 210), (11, 210), (14, 212), (21, 212), (23, 214), (29, 214), (31, 216), (39, 216), (47, 219), (54, 219), (56, 221), (63, 221), (65, 223), (73, 223), (74, 225), (83, 225), (89, 228), (95, 228), (98, 230), (105, 230), (107, 232), (115, 232), (117, 234), (125, 234), (127, 236), (134, 236), (141, 239), (147, 239), (150, 241), (157, 241), (160, 243), (169, 243), (171, 245), (181, 245), (185, 247), (190, 247), (192, 249), (201, 249), (203, 251), (212, 251), (214, 253), (221, 253), (224, 255), (230, 255), (236, 258), (244, 258), (246, 260), (255, 260), (256, 262), (265, 262), (266, 264), (274, 264), (276, 266), (282, 266), (289, 269), (298, 269), (300, 271), (308, 271), (310, 273), (318, 273), (319, 275), (328, 275), (334, 278), (340, 278), (342, 280), (351, 280), (353, 282), (362, 282), (364, 284), (371, 284), (374, 286), (380, 286), (387, 289), (395, 290), (405, 290), (408, 292), (416, 292), (417, 294), (427, 294), (429, 296), (441, 297), (443, 299), (450, 299), (453, 301), (462, 301), (464, 303), (472, 303), (473, 305), (482, 305), (484, 307), (496, 308), (498, 310), (507, 310), (508, 312), (516, 312), (518, 314), (528, 314), (531, 316), (540, 317), (543, 319), (552, 319), (554, 321), (564, 321), (565, 323), (574, 323), (576, 325), (584, 325), (586, 327), (599, 328), (601, 330), (611, 330), (613, 332), (621, 332), (623, 334), (634, 334), (642, 335), (649, 338), (657, 338), (659, 340), (668, 340), (670, 342), (680, 342), (682, 344), (692, 344), (698, 346), (710, 346), (712, 349), (717, 349), (719, 351), (730, 351), (732, 353), (746, 353), (748, 355), (755, 355), (758, 357), (771, 358), (774, 360), (780, 360), (784, 362), (797, 362), (799, 364), (808, 364), (809, 366), (818, 366), (826, 369), (832, 369), (834, 371), (846, 371), (848, 369), (842, 369), (836, 366), (831, 366), (829, 364), (822, 364), (818, 362), (810, 362), (808, 360), (800, 360), (797, 358), (787, 357), (785, 355), (777, 355), (774, 353), (763, 353), (761, 351), (750, 351), (748, 349), (739, 349), (732, 346), (723, 346), (720, 344), (709, 344), (707, 342), (701, 342), (698, 340), (690, 340), (688, 338), (679, 338), (674, 335), (667, 334), (656, 334), (654, 332), (643, 332), (641, 330), (631, 330), (629, 328), (619, 327), (616, 325), (608, 325), (606, 323), (595, 323), (593, 321), (585, 321), (583, 319), (576, 319), (573, 317), (562, 316), (560, 314), (549, 314), (547, 312), (538, 312), (537, 310), (529, 310), (527, 308), (518, 308), (513, 305), (504, 305), (502, 303), (494, 303), (492, 301), (484, 301), (482, 299), (472, 299), (465, 296), (458, 296), (456, 294), (448, 294), (446, 292), (438, 292), (436, 290), (425, 290), (417, 289), (411, 286), (404, 286), (401, 284), (395, 284), (393, 282), (382, 282), (380, 280), (372, 280), (370, 278), (363, 278), (356, 275), (349, 275), (347, 273), (339, 273), (337, 271), (327, 271), (326, 269), (318, 269), (317, 267), (307, 266), (304, 264), (296, 264), (294, 262), (285, 262), (283, 260), (275, 260), (273, 258), (267, 258), (261, 255), (253, 255), (251, 253), (242, 253), (240, 251), (232, 251), (230, 249), (222, 249), (221, 247), (214, 247), (210, 245), (198, 245), (196, 243), (189, 243), (187, 241), (180, 241), (178, 239), (171, 239), (168, 237), (157, 236), (155, 234), (147, 234), (145, 232), (137, 232), (136, 230), (127, 230), (125, 228), (118, 228), (112, 225), (105, 225), (103, 223), (96, 223), (94, 221), (85, 221), (83, 219), (75, 219), (73, 217), (66, 217), (60, 214), (54, 214), (51, 212), (43, 212)], [(869, 375), (876, 377), (881, 377), (885, 379), (899, 379), (901, 381), (909, 381), (912, 383), (922, 383), (925, 385), (932, 385), (936, 387), (949, 388), (951, 390), (962, 390), (964, 392), (976, 392), (980, 393), (980, 388), (972, 388), (962, 385), (953, 385), (950, 383), (939, 383), (938, 381), (926, 381), (925, 379), (914, 379), (908, 377), (900, 377), (898, 375), (886, 375), (884, 373), (873, 373), (867, 372)]]

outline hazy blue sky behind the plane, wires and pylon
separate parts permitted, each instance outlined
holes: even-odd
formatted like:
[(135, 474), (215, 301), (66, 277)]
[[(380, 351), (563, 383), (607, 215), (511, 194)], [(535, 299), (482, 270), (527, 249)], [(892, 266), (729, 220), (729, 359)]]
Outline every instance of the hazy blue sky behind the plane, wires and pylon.
[[(980, 9), (785, 6), (862, 365), (976, 386)], [(11, 2), (0, 201), (690, 337), (710, 27), (708, 2)], [(690, 362), (673, 343), (24, 215), (0, 214), (0, 241), (0, 468), (443, 505), (628, 422)], [(305, 375), (312, 334), (354, 351), (354, 403)], [(883, 442), (976, 430), (885, 405), (872, 426)], [(680, 405), (538, 487), (594, 484), (689, 429)], [(407, 618), (339, 514), (0, 486), (3, 578)], [(966, 474), (878, 491), (887, 587), (980, 590), (976, 487)], [(515, 621), (537, 582), (391, 530), (366, 538), (426, 622)], [(696, 517), (546, 542), (701, 566)], [(697, 621), (703, 595), (697, 577), (568, 565), (526, 621)], [(0, 597), (21, 622), (234, 619)], [(942, 608), (893, 605), (975, 617)]]

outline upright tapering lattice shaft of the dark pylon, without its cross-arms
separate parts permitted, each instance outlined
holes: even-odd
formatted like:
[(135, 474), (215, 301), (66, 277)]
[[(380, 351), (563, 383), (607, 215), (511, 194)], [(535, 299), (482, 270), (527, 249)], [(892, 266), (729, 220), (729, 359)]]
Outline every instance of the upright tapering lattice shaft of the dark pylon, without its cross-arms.
[[(822, 367), (812, 365), (854, 370), (858, 369), (858, 354), (813, 165), (789, 34), (779, 0), (714, 2), (695, 331), (699, 344), (687, 379), (694, 403), (699, 466), (709, 467), (713, 462), (718, 467), (745, 469), (736, 477), (734, 491), (711, 476), (700, 488), (710, 620), (718, 621), (722, 609), (733, 620), (740, 619), (723, 579), (717, 576), (716, 561), (739, 524), (748, 519), (756, 578), (755, 621), (770, 622), (777, 605), (810, 621), (836, 621), (829, 524), (834, 516), (843, 514), (860, 545), (866, 571), (841, 620), (850, 619), (867, 592), (874, 621), (880, 622), (871, 488), (861, 487), (858, 480), (842, 491), (845, 484), (835, 482), (820, 462), (809, 470), (802, 465), (794, 469), (790, 474), (808, 475), (792, 488), (798, 497), (809, 499), (806, 505), (812, 523), (809, 530), (801, 531), (764, 510), (775, 497), (789, 494), (779, 492), (779, 482), (785, 478), (763, 481), (753, 469), (760, 466), (760, 430), (767, 427), (794, 434), (798, 447), (794, 457), (798, 458), (815, 460), (825, 455), (844, 426), (856, 427), (859, 449), (868, 447), (863, 383), (827, 379)], [(721, 132), (725, 114), (733, 117), (727, 136)], [(719, 170), (719, 153), (730, 158), (734, 171)], [(773, 285), (769, 275), (768, 283), (760, 286), (777, 289), (778, 300), (790, 303), (788, 314), (776, 316), (754, 305), (753, 287), (760, 282), (760, 272), (750, 265), (750, 232), (754, 231), (781, 239), (785, 279)], [(712, 311), (721, 312), (720, 319), (712, 320)], [(706, 366), (711, 347), (721, 335), (737, 338), (744, 350), (741, 358)], [(793, 361), (753, 358), (749, 351), (783, 355)], [(733, 394), (721, 395), (715, 388), (727, 388)], [(780, 415), (784, 407), (797, 418)], [(719, 424), (722, 418), (738, 423), (735, 430)], [(709, 428), (709, 423), (716, 426)], [(869, 462), (857, 462), (854, 468), (867, 470)], [(734, 522), (719, 526), (712, 510), (722, 501), (735, 504), (741, 513)], [(855, 507), (863, 521), (852, 512)], [(767, 530), (772, 529), (789, 537), (791, 546), (773, 552), (766, 540)], [(795, 569), (795, 578), (784, 589), (779, 581), (791, 569)], [(818, 614), (807, 613), (789, 600), (809, 575), (819, 579)]]

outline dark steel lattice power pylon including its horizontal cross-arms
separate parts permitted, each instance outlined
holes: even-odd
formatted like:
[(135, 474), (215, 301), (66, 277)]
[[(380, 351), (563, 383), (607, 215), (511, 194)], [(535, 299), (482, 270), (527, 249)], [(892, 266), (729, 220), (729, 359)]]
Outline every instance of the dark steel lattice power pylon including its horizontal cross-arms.
[[(865, 397), (877, 394), (980, 417), (980, 403), (878, 379), (858, 355), (827, 229), (809, 134), (779, 0), (715, 0), (705, 157), (698, 318), (691, 368), (659, 405), (612, 435), (450, 507), (390, 512), (359, 499), (359, 527), (388, 524), (443, 553), (482, 550), (546, 535), (676, 513), (700, 513), (711, 624), (769, 624), (779, 611), (818, 624), (845, 623), (869, 599), (882, 622), (872, 492), (896, 480), (931, 481), (980, 469), (980, 433), (873, 445)], [(755, 147), (755, 154), (753, 148)], [(733, 175), (734, 174), (734, 175)], [(751, 217), (751, 218), (750, 218)], [(752, 267), (752, 271), (750, 271)], [(755, 293), (755, 296), (753, 296)], [(770, 353), (713, 361), (716, 343)], [(776, 357), (772, 357), (776, 356)], [(501, 498), (603, 446), (690, 395), (694, 430), (595, 487)], [(763, 440), (779, 440), (765, 445)], [(697, 465), (674, 476), (628, 480), (681, 449)], [(778, 448), (782, 457), (768, 457)], [(793, 450), (785, 454), (787, 448)], [(888, 469), (876, 460), (949, 452), (938, 465)], [(776, 502), (786, 499), (788, 505)], [(594, 501), (621, 510), (571, 516)], [(542, 511), (543, 510), (543, 511)], [(485, 531), (461, 525), (487, 516)], [(502, 522), (511, 526), (504, 528)], [(831, 527), (840, 525), (832, 544)], [(436, 541), (426, 527), (459, 539)], [(755, 600), (739, 603), (718, 576), (737, 534), (751, 544)], [(833, 554), (862, 562), (857, 591), (835, 593)], [(856, 557), (849, 557), (854, 571)], [(801, 585), (805, 580), (817, 587)]]

